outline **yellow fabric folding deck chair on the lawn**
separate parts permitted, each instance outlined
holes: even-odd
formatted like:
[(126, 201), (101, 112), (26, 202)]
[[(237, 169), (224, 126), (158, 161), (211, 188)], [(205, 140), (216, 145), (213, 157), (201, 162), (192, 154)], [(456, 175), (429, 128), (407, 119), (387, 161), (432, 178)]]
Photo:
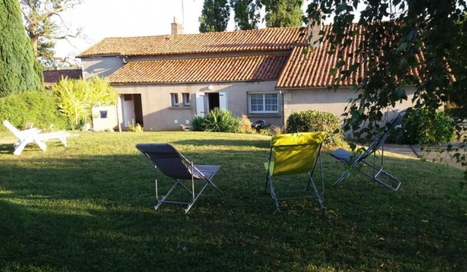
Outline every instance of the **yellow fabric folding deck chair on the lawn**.
[[(265, 191), (268, 191), (269, 184), (270, 194), (275, 200), (277, 211), (280, 211), (280, 202), (282, 201), (314, 197), (318, 199), (319, 206), (323, 209), (321, 196), (324, 193), (324, 183), (323, 165), (321, 163), (320, 155), (321, 145), (323, 144), (324, 139), (326, 139), (326, 133), (323, 132), (274, 135), (271, 139), (268, 162), (264, 163), (267, 173)], [(319, 162), (319, 169), (321, 172), (321, 192), (316, 188), (312, 178), (317, 162)], [(307, 186), (300, 190), (302, 192), (300, 196), (277, 197), (274, 188), (275, 186), (273, 184), (273, 176), (305, 173), (308, 176)], [(303, 195), (303, 192), (309, 189), (310, 184), (313, 187), (314, 195)]]

